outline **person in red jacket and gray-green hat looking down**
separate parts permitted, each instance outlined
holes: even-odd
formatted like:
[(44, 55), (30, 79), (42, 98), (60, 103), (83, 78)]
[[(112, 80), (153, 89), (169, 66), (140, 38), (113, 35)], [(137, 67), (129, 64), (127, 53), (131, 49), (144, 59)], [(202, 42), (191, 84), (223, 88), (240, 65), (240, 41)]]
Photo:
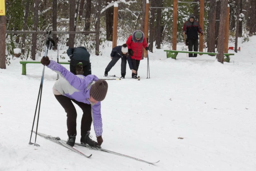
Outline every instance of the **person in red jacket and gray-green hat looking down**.
[(137, 72), (137, 74), (132, 73), (132, 78), (136, 79), (138, 78), (137, 75), (138, 75), (140, 60), (142, 58), (143, 47), (146, 50), (148, 50), (147, 40), (142, 31), (136, 30), (133, 32), (132, 35), (128, 37), (126, 44), (128, 46), (128, 52), (133, 63), (133, 69)]

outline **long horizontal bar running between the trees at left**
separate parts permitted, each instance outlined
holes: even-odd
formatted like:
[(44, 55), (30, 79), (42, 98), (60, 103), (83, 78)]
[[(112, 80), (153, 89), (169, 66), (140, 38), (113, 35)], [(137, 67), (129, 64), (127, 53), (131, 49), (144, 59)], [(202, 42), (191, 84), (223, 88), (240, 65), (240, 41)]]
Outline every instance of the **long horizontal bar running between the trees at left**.
[[(46, 31), (6, 31), (7, 34), (46, 34)], [(97, 34), (101, 31), (52, 31), (52, 34)]]

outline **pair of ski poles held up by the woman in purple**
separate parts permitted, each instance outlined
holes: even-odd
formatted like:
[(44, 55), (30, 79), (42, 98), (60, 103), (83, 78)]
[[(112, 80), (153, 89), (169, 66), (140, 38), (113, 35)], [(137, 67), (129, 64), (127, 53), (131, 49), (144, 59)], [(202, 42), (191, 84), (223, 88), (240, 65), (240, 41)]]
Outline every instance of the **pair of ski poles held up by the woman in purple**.
[[(46, 47), (45, 47), (44, 57), (47, 56), (48, 50), (50, 50), (52, 46), (55, 46), (55, 43), (51, 39), (51, 31), (50, 31), (49, 34), (48, 34), (48, 31), (47, 31), (47, 33), (46, 33)], [(45, 69), (45, 66), (43, 66), (43, 73), (42, 73), (42, 77), (41, 77), (41, 83), (40, 83), (39, 93), (38, 93), (37, 102), (36, 102), (36, 110), (37, 110), (37, 105), (38, 105), (38, 101), (39, 101), (39, 109), (38, 109), (37, 123), (36, 123), (36, 135), (37, 135), (37, 129), (38, 129), (38, 123), (39, 123), (39, 113), (40, 113), (41, 97), (42, 97), (42, 90), (43, 90), (44, 69)], [(31, 137), (32, 137), (32, 133), (33, 133), (33, 129), (34, 129), (34, 123), (35, 123), (35, 119), (36, 119), (36, 110), (35, 110), (34, 120), (33, 120), (33, 124), (32, 124), (29, 145), (34, 144), (36, 146), (40, 146), (39, 144), (36, 144), (36, 137), (35, 137), (35, 143), (31, 143)]]

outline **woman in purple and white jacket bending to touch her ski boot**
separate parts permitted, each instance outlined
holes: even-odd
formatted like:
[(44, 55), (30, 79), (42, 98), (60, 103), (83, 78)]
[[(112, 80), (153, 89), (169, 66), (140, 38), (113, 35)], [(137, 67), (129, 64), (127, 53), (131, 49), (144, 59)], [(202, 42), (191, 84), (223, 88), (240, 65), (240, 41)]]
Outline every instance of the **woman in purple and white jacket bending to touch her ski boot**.
[[(101, 101), (106, 97), (108, 83), (105, 80), (99, 80), (96, 75), (87, 75), (86, 77), (84, 75), (74, 75), (59, 63), (49, 60), (48, 56), (43, 56), (41, 63), (63, 77), (55, 82), (53, 94), (67, 113), (67, 144), (75, 145), (77, 112), (73, 103), (76, 103), (83, 111), (81, 144), (100, 146), (103, 142), (101, 137)], [(92, 123), (97, 142), (89, 137)]]

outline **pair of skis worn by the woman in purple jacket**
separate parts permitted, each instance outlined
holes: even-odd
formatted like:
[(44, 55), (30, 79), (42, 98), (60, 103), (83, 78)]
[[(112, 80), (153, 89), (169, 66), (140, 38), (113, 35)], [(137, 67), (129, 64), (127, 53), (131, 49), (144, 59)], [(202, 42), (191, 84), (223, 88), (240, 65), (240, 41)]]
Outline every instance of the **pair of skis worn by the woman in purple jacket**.
[[(33, 131), (33, 132), (36, 134), (35, 131)], [(46, 135), (46, 134), (42, 134), (42, 133), (39, 133), (39, 132), (37, 132), (37, 134), (38, 134), (39, 136), (43, 137), (43, 138), (46, 138), (46, 139), (50, 140), (50, 141), (53, 141), (53, 142), (58, 143), (58, 144), (60, 144), (60, 145), (63, 145), (64, 147), (66, 147), (66, 148), (72, 150), (73, 152), (78, 153), (79, 155), (82, 155), (82, 156), (87, 157), (87, 158), (92, 156), (92, 154), (91, 154), (91, 155), (85, 155), (84, 153), (82, 153), (82, 152), (78, 151), (77, 149), (71, 147), (70, 145), (66, 144), (66, 141), (60, 140), (59, 137), (53, 137), (53, 136)], [(134, 159), (134, 160), (137, 160), (137, 161), (140, 161), (140, 162), (145, 162), (145, 163), (147, 163), (147, 164), (155, 164), (155, 163), (157, 163), (157, 162), (160, 161), (160, 160), (159, 160), (159, 161), (157, 161), (157, 162), (147, 162), (147, 161), (142, 160), (142, 159), (138, 159), (138, 158), (131, 157), (131, 156), (128, 156), (128, 155), (123, 155), (123, 154), (120, 154), (120, 153), (118, 153), (118, 152), (113, 152), (113, 151), (110, 151), (110, 150), (105, 150), (105, 149), (103, 149), (103, 148), (92, 147), (92, 146), (89, 146), (89, 145), (87, 145), (87, 144), (75, 143), (75, 145), (83, 146), (83, 147), (89, 148), (89, 149), (91, 149), (91, 150), (98, 150), (98, 151), (108, 152), (108, 153), (111, 153), (111, 154), (114, 154), (114, 155), (119, 155), (119, 156), (123, 156), (123, 157), (128, 157), (128, 158), (130, 158), (130, 159)]]

